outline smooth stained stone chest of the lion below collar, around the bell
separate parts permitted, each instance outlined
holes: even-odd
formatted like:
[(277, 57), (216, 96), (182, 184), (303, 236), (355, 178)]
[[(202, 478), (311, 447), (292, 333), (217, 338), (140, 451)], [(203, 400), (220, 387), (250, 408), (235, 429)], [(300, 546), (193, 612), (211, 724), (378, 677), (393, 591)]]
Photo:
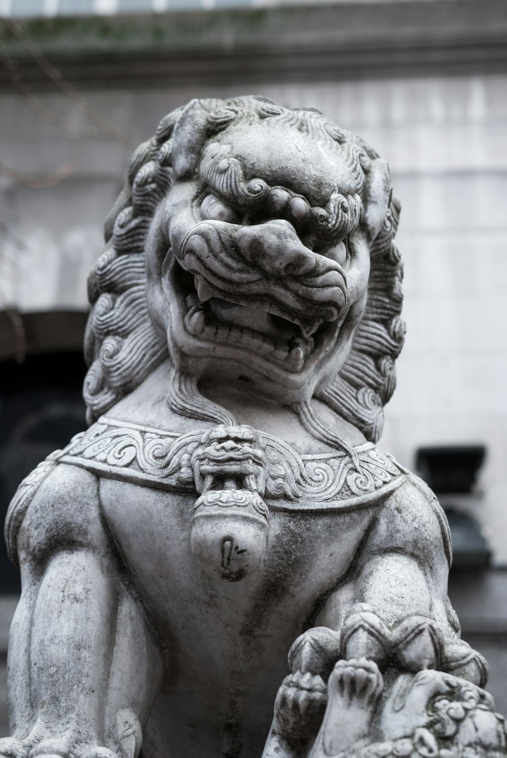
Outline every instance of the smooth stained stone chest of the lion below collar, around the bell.
[(199, 724), (199, 754), (260, 755), (289, 647), (346, 575), (382, 498), (349, 510), (270, 507), (261, 563), (238, 581), (206, 571), (192, 552), (195, 493), (102, 479), (101, 500), (167, 650), (150, 733), (188, 758)]

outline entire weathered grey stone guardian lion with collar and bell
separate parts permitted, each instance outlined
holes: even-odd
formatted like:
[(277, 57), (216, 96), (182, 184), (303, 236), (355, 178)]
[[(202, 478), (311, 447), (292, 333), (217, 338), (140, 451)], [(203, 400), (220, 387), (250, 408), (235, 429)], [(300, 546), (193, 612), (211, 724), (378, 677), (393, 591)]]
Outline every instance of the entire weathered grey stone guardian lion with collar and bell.
[(376, 446), (399, 208), (361, 139), (260, 97), (192, 100), (133, 155), (91, 425), (8, 512), (5, 758), (505, 755), (445, 515)]

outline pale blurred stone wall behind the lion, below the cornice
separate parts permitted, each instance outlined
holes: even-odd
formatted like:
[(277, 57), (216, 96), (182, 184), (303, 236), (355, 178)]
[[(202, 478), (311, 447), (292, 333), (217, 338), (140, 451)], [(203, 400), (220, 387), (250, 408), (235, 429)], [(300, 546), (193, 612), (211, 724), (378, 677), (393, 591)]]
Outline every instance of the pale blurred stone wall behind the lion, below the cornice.
[[(382, 445), (413, 466), (415, 448), (485, 443), (477, 515), (496, 562), (507, 563), (507, 76), (249, 86), (286, 105), (321, 108), (361, 134), (390, 163), (402, 199), (398, 242), (405, 256), (408, 334)], [(192, 96), (215, 87), (85, 92), (133, 143)], [(79, 118), (63, 96), (39, 96)], [(2, 158), (17, 171), (55, 171), (79, 160), (52, 189), (0, 180), (0, 221), (26, 244), (3, 249), (2, 290), (23, 310), (85, 306), (86, 272), (102, 221), (120, 188), (128, 151), (106, 136), (86, 139), (1, 96)]]

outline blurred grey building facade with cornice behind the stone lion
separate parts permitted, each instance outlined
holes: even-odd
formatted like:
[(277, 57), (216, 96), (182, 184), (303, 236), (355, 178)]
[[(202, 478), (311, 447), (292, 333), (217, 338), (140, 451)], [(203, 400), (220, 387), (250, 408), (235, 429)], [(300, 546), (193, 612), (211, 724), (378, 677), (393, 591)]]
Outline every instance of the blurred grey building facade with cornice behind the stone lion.
[(380, 445), (409, 468), (420, 446), (487, 448), (461, 506), (493, 565), (451, 590), (507, 710), (507, 4), (2, 2), (21, 22), (0, 34), (0, 298), (16, 309), (0, 313), (5, 365), (20, 339), (28, 352), (80, 349), (129, 145), (192, 97), (319, 108), (389, 162), (408, 332)]

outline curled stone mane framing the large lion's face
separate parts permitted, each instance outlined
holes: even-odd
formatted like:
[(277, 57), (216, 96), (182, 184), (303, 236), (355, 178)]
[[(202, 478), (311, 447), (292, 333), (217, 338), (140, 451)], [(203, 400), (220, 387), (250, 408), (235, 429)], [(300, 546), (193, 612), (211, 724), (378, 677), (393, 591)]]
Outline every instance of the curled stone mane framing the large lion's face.
[[(169, 357), (164, 330), (154, 323), (149, 312), (145, 245), (155, 210), (174, 181), (173, 167), (180, 176), (199, 171), (208, 139), (233, 121), (251, 119), (252, 115), (308, 133), (324, 146), (340, 146), (357, 193), (349, 196), (349, 203), (358, 199), (371, 160), (378, 158), (358, 137), (336, 127), (318, 111), (281, 108), (256, 97), (225, 102), (202, 100), (199, 106), (191, 131), (178, 128), (185, 121), (186, 106), (165, 116), (155, 136), (139, 146), (130, 161), (127, 184), (105, 223), (105, 252), (89, 277), (92, 310), (85, 337), (89, 371), (83, 387), (89, 423), (132, 392)], [(368, 300), (349, 356), (336, 377), (316, 393), (372, 441), (377, 441), (382, 432), (383, 405), (396, 385), (394, 362), (405, 335), (400, 318), (402, 262), (393, 243), (399, 209), (398, 200), (392, 196), (383, 226), (371, 246)], [(326, 224), (330, 223), (333, 213), (337, 213), (333, 208), (315, 208), (316, 222), (322, 217)], [(179, 386), (193, 387), (188, 382), (180, 382)], [(188, 391), (197, 393), (196, 387)], [(196, 405), (199, 402), (194, 401)], [(208, 415), (223, 418), (218, 406), (215, 409)]]

